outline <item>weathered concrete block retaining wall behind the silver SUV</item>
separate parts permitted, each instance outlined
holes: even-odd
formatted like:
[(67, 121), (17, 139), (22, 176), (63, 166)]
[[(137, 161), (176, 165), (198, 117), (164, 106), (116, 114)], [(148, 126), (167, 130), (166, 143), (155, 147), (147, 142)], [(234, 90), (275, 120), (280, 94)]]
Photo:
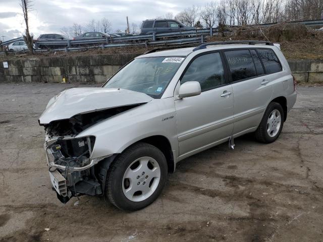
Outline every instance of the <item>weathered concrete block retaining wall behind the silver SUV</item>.
[[(0, 82), (103, 83), (138, 54), (58, 56), (0, 62)], [(323, 83), (323, 60), (290, 59), (298, 82)]]

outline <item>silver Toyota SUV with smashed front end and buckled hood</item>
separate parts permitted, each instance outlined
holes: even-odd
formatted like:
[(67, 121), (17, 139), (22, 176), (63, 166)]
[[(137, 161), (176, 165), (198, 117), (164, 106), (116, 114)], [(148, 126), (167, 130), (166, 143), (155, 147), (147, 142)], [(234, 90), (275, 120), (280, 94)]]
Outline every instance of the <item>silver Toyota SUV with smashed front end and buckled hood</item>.
[(141, 209), (180, 160), (224, 142), (233, 148), (251, 132), (274, 142), (296, 101), (295, 81), (277, 46), (245, 43), (150, 51), (102, 87), (50, 99), (39, 124), (58, 198), (87, 194)]

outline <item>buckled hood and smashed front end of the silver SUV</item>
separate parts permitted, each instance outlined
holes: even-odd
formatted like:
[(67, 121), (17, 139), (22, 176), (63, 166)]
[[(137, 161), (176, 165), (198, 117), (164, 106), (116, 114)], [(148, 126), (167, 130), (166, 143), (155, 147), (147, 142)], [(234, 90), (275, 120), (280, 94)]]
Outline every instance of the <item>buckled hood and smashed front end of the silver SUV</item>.
[[(51, 184), (63, 203), (84, 194), (102, 196), (107, 172), (102, 164), (114, 157), (102, 140), (95, 145), (101, 130), (82, 133), (151, 100), (144, 93), (109, 88), (72, 88), (50, 99), (38, 122), (46, 132), (44, 148)], [(101, 128), (102, 132), (106, 128)]]

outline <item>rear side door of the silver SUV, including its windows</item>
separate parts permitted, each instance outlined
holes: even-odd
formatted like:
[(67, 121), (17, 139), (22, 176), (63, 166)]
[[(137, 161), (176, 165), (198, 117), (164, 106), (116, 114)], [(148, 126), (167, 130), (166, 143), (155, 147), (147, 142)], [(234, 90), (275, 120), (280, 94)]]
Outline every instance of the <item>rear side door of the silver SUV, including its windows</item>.
[(273, 87), (267, 81), (263, 65), (255, 49), (224, 51), (231, 74), (234, 95), (234, 130), (241, 134), (254, 129), (271, 100)]

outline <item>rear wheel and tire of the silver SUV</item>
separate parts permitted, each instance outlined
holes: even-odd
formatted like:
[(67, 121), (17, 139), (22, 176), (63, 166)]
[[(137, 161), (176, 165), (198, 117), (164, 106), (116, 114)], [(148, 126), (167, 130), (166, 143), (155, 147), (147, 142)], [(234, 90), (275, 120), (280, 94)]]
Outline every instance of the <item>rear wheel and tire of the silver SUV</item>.
[(260, 125), (255, 131), (255, 138), (262, 143), (272, 143), (282, 132), (284, 110), (278, 102), (271, 102), (263, 114)]

